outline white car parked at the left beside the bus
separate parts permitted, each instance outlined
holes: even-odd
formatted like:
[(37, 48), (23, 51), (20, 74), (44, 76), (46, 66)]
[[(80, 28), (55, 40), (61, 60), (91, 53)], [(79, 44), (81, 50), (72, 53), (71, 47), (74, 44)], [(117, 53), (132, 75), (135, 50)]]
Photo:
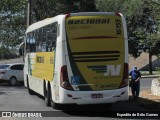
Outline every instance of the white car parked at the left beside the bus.
[(0, 65), (0, 82), (8, 82), (11, 86), (23, 82), (23, 67), (22, 63)]

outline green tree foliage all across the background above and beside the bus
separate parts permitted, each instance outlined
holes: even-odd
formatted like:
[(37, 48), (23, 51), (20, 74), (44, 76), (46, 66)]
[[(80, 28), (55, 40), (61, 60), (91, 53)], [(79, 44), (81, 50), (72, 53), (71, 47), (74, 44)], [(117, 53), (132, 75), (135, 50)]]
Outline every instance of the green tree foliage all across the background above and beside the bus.
[[(159, 0), (31, 0), (31, 22), (70, 12), (121, 12), (126, 17), (129, 53), (138, 57), (143, 51), (160, 52)], [(27, 0), (0, 1), (0, 42), (15, 46), (26, 30)], [(157, 32), (148, 20), (155, 21)]]

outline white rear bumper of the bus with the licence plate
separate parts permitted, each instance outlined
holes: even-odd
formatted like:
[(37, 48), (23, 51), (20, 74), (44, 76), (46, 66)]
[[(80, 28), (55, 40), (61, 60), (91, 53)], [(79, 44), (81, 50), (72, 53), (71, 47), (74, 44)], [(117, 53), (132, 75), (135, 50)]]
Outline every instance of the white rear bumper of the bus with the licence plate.
[(100, 104), (115, 103), (129, 100), (129, 88), (104, 91), (66, 91), (64, 90), (59, 102), (64, 104)]

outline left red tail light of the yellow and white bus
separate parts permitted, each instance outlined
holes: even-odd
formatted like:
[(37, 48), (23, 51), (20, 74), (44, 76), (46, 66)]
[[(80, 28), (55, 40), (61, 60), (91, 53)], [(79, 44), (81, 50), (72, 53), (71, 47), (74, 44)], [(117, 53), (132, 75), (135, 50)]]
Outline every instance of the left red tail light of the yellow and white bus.
[(61, 67), (60, 85), (64, 89), (73, 90), (72, 86), (69, 83), (68, 72), (67, 72), (67, 66), (66, 65)]

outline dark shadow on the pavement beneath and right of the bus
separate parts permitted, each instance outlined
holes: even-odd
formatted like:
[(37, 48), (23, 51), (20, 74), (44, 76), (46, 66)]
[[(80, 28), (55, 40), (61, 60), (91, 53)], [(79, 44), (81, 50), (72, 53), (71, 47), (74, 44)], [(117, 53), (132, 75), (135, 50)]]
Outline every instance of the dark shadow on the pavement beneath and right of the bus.
[[(109, 104), (97, 104), (97, 105), (72, 105), (63, 108), (65, 114), (71, 116), (81, 117), (110, 117), (110, 118), (122, 118), (121, 115), (126, 115), (124, 119), (130, 118), (159, 118), (160, 116), (160, 102), (148, 100), (145, 98), (139, 98), (134, 101), (131, 96), (129, 101), (117, 102), (113, 104), (114, 108)], [(115, 107), (116, 106), (116, 107)], [(118, 108), (118, 109), (117, 109)], [(118, 114), (120, 116), (118, 116)], [(133, 116), (135, 114), (135, 116)], [(139, 116), (139, 115), (142, 116)], [(147, 116), (147, 114), (151, 116)]]

